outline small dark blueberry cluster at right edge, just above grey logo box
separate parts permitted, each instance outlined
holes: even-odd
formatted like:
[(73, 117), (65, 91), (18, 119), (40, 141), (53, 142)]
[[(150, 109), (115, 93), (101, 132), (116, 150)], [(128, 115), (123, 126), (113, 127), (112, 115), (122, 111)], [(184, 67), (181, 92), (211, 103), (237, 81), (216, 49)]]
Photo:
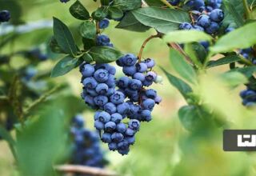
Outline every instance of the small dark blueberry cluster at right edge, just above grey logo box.
[(242, 104), (244, 106), (255, 106), (256, 105), (256, 91), (250, 88), (242, 90), (240, 92), (240, 97), (242, 98)]

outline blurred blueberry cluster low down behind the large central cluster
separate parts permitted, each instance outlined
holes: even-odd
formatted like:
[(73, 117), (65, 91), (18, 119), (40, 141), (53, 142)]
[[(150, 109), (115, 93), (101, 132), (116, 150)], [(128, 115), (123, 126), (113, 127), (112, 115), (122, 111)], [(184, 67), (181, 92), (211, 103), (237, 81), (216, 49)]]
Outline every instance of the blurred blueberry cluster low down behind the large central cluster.
[(82, 115), (73, 118), (71, 134), (74, 138), (71, 163), (102, 168), (106, 164), (98, 134), (85, 129)]

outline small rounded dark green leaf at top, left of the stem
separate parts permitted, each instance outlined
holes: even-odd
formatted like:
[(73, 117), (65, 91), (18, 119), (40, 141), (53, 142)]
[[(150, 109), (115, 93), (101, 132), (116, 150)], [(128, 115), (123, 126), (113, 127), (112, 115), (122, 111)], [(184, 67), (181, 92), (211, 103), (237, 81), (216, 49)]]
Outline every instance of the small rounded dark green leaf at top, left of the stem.
[(72, 14), (74, 18), (81, 20), (86, 20), (90, 18), (89, 12), (84, 6), (82, 6), (82, 3), (78, 0), (74, 2), (72, 6), (70, 6), (70, 14)]

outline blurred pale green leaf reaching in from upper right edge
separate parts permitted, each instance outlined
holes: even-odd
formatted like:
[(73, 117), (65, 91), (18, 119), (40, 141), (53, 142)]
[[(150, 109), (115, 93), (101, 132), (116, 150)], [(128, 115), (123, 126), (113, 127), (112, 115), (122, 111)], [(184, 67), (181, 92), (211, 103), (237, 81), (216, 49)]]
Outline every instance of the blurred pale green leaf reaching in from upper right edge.
[(246, 24), (218, 39), (216, 44), (210, 47), (210, 51), (212, 53), (224, 53), (253, 46), (256, 44), (255, 29), (256, 22)]

